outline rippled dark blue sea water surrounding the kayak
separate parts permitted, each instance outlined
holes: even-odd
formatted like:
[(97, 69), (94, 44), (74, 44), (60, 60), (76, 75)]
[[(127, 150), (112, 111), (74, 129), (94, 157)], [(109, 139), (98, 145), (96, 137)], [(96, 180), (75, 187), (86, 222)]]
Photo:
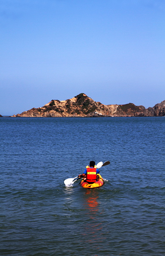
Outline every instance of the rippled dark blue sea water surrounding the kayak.
[(165, 117), (0, 118), (0, 255), (164, 256)]

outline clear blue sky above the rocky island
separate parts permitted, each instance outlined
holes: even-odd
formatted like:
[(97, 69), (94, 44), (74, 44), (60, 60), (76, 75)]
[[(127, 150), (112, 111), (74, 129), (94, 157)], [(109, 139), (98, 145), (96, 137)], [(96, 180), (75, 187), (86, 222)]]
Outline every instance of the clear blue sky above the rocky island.
[(0, 0), (0, 114), (165, 100), (164, 0)]

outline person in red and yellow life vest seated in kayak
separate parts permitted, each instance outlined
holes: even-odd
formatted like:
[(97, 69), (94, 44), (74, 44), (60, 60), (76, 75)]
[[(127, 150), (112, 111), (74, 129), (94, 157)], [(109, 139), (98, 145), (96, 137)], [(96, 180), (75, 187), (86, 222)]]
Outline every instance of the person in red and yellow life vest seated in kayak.
[(86, 166), (86, 169), (83, 174), (78, 175), (79, 178), (84, 178), (84, 182), (94, 183), (98, 180), (97, 174), (100, 171), (95, 166), (95, 161), (90, 161), (89, 166)]

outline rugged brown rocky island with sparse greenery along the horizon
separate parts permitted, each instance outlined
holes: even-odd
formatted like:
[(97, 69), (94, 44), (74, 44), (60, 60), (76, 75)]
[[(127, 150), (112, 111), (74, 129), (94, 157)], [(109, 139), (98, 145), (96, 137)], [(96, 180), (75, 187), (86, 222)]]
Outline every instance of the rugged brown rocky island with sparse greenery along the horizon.
[(14, 117), (76, 117), (76, 116), (165, 116), (165, 101), (153, 108), (125, 105), (103, 105), (95, 102), (86, 94), (80, 93), (64, 101), (51, 100), (42, 108), (32, 108)]

